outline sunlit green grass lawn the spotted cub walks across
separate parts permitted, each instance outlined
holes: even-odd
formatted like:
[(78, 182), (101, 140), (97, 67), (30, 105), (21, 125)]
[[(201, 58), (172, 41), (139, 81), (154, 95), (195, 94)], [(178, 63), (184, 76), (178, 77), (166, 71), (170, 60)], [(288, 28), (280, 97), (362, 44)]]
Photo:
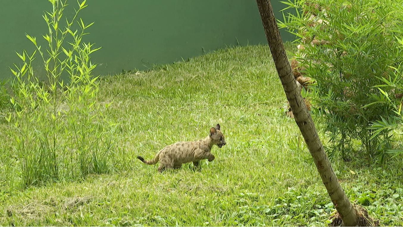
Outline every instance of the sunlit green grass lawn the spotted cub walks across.
[[(286, 98), (268, 46), (227, 48), (147, 72), (104, 77), (98, 100), (112, 101), (108, 119), (119, 123), (116, 133), (130, 168), (23, 190), (9, 189), (4, 181), (0, 225), (330, 223), (334, 206), (295, 121), (285, 117)], [(214, 147), (216, 159), (202, 162), (199, 172), (187, 164), (161, 174), (135, 158), (204, 138), (217, 123), (227, 145)], [(7, 153), (10, 138), (4, 135), (0, 132), (6, 141), (1, 149)], [(361, 163), (334, 161), (349, 198), (380, 225), (403, 225), (402, 159), (380, 168)]]

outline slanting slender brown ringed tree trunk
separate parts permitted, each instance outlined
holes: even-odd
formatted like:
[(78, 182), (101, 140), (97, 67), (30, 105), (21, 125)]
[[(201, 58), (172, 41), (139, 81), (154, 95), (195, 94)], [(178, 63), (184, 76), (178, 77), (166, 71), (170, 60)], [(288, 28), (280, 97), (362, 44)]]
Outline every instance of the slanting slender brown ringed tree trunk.
[(301, 92), (297, 89), (297, 84), (291, 72), (291, 66), (284, 49), (283, 41), (278, 31), (272, 5), (269, 0), (256, 0), (256, 2), (258, 3), (274, 64), (276, 65), (278, 76), (283, 84), (291, 109), (293, 110), (295, 122), (301, 131), (320, 177), (344, 225), (355, 226), (357, 225), (357, 212), (341, 188), (336, 175), (334, 175), (330, 161), (324, 152), (322, 142), (320, 142), (314, 122), (312, 121), (312, 117), (303, 101)]

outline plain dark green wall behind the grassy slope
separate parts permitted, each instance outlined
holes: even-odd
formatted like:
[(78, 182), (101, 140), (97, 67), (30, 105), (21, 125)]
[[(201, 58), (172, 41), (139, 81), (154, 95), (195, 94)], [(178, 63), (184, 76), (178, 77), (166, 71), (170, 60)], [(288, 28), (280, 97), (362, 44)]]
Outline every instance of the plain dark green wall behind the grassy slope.
[[(1, 2), (0, 78), (5, 78), (10, 76), (8, 67), (19, 62), (14, 51), (33, 50), (25, 33), (43, 40), (47, 27), (42, 13), (51, 5), (48, 0)], [(81, 16), (87, 23), (95, 21), (87, 39), (102, 46), (93, 54), (99, 63), (96, 74), (146, 69), (237, 42), (266, 43), (255, 0), (87, 0), (87, 4)], [(272, 4), (281, 17), (278, 10), (283, 5)], [(291, 38), (285, 31), (282, 36)]]

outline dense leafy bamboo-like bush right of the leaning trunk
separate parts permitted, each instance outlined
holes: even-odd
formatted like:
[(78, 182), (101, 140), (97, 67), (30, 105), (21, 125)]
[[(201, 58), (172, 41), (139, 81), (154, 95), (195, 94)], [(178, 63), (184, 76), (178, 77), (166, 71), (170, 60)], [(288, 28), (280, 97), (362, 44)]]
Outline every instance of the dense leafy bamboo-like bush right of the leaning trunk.
[(385, 160), (395, 151), (394, 129), (401, 125), (403, 2), (284, 3), (296, 13), (284, 16), (280, 27), (304, 47), (295, 58), (316, 81), (308, 95), (330, 135), (330, 156), (340, 151), (345, 160), (359, 157), (358, 141), (370, 160)]

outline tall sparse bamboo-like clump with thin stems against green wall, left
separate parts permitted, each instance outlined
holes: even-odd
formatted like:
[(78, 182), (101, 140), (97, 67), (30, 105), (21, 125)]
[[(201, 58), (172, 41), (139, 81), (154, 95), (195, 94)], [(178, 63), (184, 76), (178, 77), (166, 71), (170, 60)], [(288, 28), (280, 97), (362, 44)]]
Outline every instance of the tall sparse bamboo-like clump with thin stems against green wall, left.
[[(8, 133), (18, 154), (15, 169), (25, 187), (107, 173), (117, 162), (112, 136), (116, 125), (106, 118), (110, 104), (96, 103), (97, 65), (90, 55), (100, 48), (83, 41), (93, 23), (78, 17), (86, 0), (78, 2), (71, 19), (63, 17), (67, 0), (49, 2), (52, 10), (43, 15), (48, 33), (41, 37), (45, 47), (27, 34), (35, 51), (17, 53), (22, 63), (11, 69), (15, 96), (6, 119), (13, 125)], [(43, 69), (34, 69), (35, 58)], [(39, 79), (44, 76), (44, 81)]]

